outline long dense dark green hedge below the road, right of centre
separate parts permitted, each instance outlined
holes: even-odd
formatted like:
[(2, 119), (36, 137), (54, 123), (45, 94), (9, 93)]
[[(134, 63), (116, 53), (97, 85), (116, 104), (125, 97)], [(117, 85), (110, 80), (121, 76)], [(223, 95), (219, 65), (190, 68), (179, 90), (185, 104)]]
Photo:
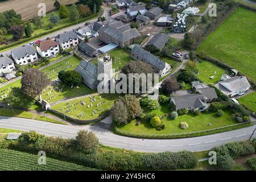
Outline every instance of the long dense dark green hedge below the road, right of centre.
[(142, 160), (146, 168), (153, 170), (189, 169), (196, 167), (198, 161), (196, 156), (189, 151), (144, 154)]

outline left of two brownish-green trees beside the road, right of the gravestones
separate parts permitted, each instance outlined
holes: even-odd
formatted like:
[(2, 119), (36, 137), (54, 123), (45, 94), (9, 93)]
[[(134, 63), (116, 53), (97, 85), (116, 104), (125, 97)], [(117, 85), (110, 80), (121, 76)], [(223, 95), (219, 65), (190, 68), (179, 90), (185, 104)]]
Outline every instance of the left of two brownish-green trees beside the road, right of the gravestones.
[(122, 100), (115, 101), (112, 109), (112, 115), (117, 126), (124, 126), (129, 122), (129, 112)]

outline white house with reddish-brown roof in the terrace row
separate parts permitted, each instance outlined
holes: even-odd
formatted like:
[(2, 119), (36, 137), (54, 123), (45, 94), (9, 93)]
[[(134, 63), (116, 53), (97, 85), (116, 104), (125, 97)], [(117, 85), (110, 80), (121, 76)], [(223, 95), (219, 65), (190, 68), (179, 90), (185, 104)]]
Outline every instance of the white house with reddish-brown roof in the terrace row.
[(60, 52), (60, 47), (54, 40), (47, 39), (36, 46), (36, 50), (41, 57), (51, 57)]

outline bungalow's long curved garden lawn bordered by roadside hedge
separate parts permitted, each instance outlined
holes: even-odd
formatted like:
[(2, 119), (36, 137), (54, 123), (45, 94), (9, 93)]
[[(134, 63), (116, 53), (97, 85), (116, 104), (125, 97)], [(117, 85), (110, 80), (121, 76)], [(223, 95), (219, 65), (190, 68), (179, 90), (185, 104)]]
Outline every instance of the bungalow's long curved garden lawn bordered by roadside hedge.
[[(203, 131), (214, 129), (222, 126), (229, 126), (236, 124), (236, 120), (231, 118), (231, 111), (225, 111), (222, 117), (217, 117), (216, 113), (201, 114), (195, 116), (194, 114), (181, 115), (177, 119), (172, 120), (170, 117), (162, 119), (163, 125), (166, 126), (164, 130), (157, 131), (149, 122), (141, 122), (141, 125), (136, 126), (136, 120), (131, 121), (129, 124), (119, 129), (129, 131), (131, 133), (141, 134), (178, 134), (189, 133), (193, 131)], [(187, 130), (181, 130), (179, 124), (181, 122), (188, 123)]]

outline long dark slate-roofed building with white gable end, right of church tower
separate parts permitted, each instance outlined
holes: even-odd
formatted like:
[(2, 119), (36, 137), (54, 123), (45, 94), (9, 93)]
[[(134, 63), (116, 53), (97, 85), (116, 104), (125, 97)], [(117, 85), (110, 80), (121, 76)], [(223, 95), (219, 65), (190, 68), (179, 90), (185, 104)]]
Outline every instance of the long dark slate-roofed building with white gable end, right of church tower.
[(159, 73), (160, 77), (170, 73), (171, 66), (161, 60), (159, 57), (152, 55), (152, 53), (146, 51), (141, 46), (135, 45), (133, 49), (131, 49), (131, 55), (134, 60), (144, 61), (151, 65), (154, 69), (155, 73)]

